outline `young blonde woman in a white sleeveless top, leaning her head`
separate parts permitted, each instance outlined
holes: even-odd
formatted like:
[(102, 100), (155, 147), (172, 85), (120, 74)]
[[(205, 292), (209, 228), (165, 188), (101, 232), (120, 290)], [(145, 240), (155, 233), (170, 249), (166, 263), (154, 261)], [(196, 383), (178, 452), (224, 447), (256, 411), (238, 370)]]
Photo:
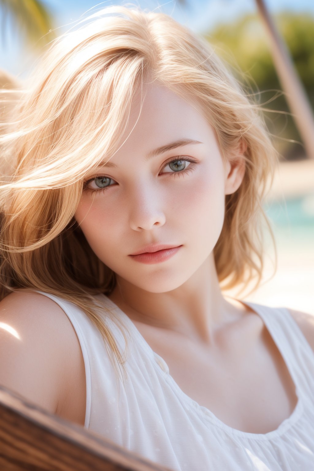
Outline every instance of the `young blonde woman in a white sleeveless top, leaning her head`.
[(171, 17), (98, 16), (1, 138), (0, 383), (173, 470), (312, 469), (312, 317), (223, 294), (262, 277), (261, 108)]

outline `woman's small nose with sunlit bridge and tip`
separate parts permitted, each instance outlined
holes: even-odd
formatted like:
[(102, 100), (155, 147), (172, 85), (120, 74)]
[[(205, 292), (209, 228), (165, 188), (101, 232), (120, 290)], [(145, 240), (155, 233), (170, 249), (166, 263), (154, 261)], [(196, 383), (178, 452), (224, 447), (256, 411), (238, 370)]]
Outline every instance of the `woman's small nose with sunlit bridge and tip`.
[(137, 180), (137, 186), (134, 188), (129, 198), (129, 218), (130, 227), (135, 231), (150, 230), (153, 227), (163, 226), (166, 217), (162, 211), (161, 189), (153, 188), (152, 184), (147, 182), (140, 184)]

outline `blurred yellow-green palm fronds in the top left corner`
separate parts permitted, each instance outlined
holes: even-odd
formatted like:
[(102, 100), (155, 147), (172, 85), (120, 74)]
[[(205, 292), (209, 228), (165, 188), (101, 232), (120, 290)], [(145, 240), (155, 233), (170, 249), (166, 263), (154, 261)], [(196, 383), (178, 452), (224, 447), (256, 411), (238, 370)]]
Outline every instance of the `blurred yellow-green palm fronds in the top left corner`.
[(5, 28), (8, 18), (18, 34), (24, 36), (28, 47), (40, 49), (53, 38), (54, 15), (41, 0), (0, 0), (1, 41), (5, 43)]

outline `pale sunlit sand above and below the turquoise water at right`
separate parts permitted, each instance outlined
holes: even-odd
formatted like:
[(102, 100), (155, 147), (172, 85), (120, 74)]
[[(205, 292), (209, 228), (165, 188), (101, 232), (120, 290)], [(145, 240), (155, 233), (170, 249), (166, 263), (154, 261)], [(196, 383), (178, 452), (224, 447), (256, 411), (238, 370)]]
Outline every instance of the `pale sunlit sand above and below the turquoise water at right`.
[[(269, 198), (277, 200), (295, 196), (306, 196), (307, 210), (313, 211), (311, 214), (314, 215), (314, 159), (280, 164)], [(302, 241), (290, 239), (289, 234), (284, 241), (276, 239), (278, 267), (274, 277), (266, 281), (274, 273), (272, 250), (273, 259), (266, 258), (266, 283), (257, 292), (249, 296), (243, 294), (239, 298), (273, 307), (290, 307), (314, 315), (314, 231), (309, 230), (308, 234)], [(236, 291), (229, 290), (225, 294), (236, 298)]]

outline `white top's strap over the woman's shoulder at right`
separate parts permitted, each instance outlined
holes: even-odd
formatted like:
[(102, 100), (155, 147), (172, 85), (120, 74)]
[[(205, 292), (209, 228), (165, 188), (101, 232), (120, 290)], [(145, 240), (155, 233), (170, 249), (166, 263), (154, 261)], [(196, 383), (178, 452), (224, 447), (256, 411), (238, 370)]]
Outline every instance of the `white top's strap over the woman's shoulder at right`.
[[(243, 302), (243, 301), (241, 301)], [(263, 319), (280, 351), (298, 392), (314, 404), (314, 351), (285, 307), (245, 302)]]

